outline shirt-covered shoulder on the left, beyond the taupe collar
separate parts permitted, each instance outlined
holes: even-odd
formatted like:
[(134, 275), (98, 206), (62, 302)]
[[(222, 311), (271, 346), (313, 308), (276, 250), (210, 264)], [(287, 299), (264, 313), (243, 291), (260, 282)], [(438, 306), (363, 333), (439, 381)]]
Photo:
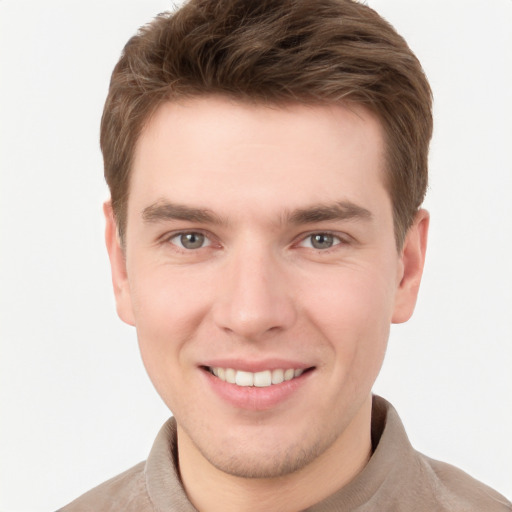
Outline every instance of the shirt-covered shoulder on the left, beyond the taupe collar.
[(86, 492), (58, 512), (149, 512), (153, 510), (146, 490), (145, 462)]

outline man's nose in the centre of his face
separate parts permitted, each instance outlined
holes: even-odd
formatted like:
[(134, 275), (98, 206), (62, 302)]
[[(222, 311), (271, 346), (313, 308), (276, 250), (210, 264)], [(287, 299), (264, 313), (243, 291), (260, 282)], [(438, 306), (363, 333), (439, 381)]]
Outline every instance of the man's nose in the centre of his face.
[(283, 262), (270, 251), (246, 248), (232, 254), (225, 263), (213, 307), (219, 328), (257, 340), (294, 324), (293, 290)]

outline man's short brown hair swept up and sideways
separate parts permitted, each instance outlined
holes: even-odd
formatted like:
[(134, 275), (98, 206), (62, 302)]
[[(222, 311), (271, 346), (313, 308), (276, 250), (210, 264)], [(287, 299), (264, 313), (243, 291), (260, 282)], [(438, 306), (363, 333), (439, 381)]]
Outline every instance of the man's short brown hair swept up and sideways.
[(112, 73), (101, 121), (123, 240), (138, 137), (166, 101), (221, 94), (262, 104), (355, 102), (380, 119), (397, 247), (423, 202), (432, 95), (394, 28), (353, 0), (190, 0), (142, 27)]

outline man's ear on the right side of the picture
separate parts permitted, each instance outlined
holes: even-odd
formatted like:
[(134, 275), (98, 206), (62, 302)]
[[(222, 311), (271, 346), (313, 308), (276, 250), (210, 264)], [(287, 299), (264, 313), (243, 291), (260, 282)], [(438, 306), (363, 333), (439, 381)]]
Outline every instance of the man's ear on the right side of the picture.
[(425, 263), (429, 221), (430, 216), (427, 210), (419, 210), (405, 237), (400, 255), (400, 283), (395, 295), (395, 309), (391, 319), (395, 324), (407, 322), (416, 305)]

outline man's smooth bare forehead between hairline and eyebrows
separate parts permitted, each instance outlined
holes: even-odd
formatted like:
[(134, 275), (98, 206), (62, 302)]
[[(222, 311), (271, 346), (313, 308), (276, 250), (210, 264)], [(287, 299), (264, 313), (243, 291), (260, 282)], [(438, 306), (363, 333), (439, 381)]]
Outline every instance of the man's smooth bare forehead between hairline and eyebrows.
[(258, 204), (368, 205), (384, 192), (383, 152), (381, 125), (360, 106), (168, 102), (138, 141), (129, 203), (139, 212), (165, 199), (237, 214)]

